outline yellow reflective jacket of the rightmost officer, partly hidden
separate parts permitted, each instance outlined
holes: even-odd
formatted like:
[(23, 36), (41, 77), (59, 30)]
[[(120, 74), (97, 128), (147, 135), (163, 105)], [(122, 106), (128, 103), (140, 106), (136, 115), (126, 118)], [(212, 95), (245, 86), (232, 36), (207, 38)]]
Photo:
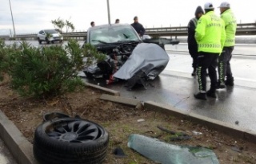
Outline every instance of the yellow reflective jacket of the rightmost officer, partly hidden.
[(234, 17), (234, 14), (230, 9), (224, 11), (221, 14), (221, 18), (225, 23), (225, 29), (226, 29), (226, 41), (225, 41), (224, 47), (234, 46), (235, 33), (237, 30), (236, 18)]

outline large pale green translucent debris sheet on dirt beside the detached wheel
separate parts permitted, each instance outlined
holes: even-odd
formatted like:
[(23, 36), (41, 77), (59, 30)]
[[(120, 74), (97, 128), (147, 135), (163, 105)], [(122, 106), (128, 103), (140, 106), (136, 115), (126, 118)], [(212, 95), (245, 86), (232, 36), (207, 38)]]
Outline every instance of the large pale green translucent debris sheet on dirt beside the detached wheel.
[(213, 150), (197, 146), (178, 146), (143, 135), (130, 135), (127, 144), (146, 158), (162, 164), (219, 164)]

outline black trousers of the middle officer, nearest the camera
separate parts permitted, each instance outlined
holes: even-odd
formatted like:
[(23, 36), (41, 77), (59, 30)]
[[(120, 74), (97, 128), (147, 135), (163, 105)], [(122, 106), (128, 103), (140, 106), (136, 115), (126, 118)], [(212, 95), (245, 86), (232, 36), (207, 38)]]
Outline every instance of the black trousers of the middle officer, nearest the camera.
[(198, 85), (200, 92), (206, 92), (206, 69), (210, 77), (210, 89), (216, 90), (219, 53), (199, 52), (198, 54)]

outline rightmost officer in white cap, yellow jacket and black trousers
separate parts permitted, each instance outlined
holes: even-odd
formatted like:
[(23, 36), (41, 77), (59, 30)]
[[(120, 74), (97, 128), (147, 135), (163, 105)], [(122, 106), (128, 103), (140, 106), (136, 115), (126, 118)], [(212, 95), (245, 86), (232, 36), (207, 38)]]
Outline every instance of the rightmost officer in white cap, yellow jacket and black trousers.
[(230, 60), (234, 49), (237, 21), (230, 9), (229, 2), (222, 2), (219, 9), (221, 18), (225, 23), (226, 41), (222, 53), (218, 57), (218, 88), (226, 88), (226, 85), (234, 86), (234, 77), (231, 72)]

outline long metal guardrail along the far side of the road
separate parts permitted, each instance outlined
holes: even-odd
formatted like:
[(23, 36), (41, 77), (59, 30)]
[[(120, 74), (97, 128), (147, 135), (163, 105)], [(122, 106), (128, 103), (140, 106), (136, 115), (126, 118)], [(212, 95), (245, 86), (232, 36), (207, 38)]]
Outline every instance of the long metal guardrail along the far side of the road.
[[(179, 37), (187, 36), (187, 27), (186, 26), (177, 26), (177, 27), (161, 27), (161, 28), (146, 28), (147, 35), (152, 37)], [(71, 33), (62, 33), (64, 38), (75, 38), (84, 40), (86, 37), (86, 32), (71, 32)], [(237, 25), (236, 35), (256, 35), (256, 23), (243, 23)], [(8, 35), (0, 35), (2, 39), (10, 39)], [(37, 39), (37, 33), (25, 33), (17, 34), (16, 39), (25, 40), (25, 39)]]

